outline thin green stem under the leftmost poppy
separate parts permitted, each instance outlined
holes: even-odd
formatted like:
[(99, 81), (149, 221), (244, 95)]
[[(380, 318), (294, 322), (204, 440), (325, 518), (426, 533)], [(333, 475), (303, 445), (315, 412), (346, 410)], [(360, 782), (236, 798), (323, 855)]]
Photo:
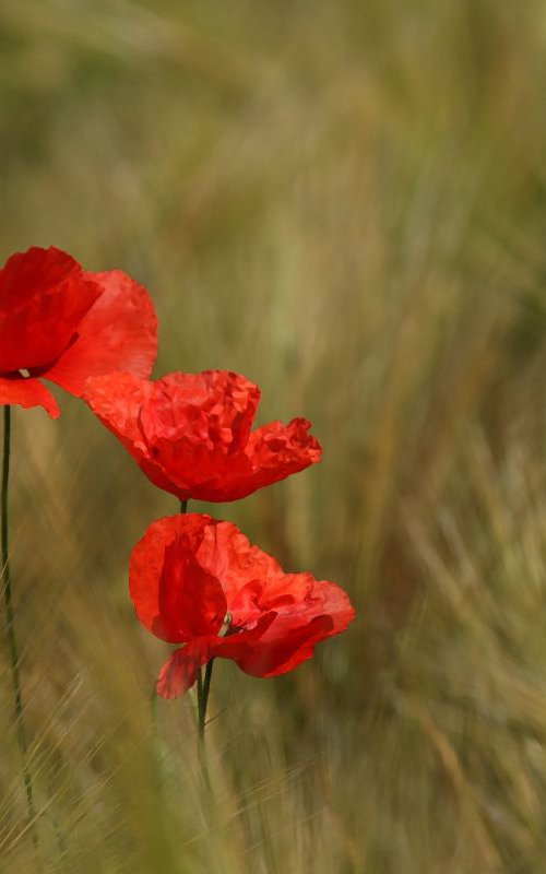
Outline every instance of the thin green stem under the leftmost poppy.
[(2, 577), (3, 577), (3, 600), (5, 604), (5, 615), (8, 619), (8, 648), (10, 650), (11, 676), (13, 682), (13, 697), (15, 701), (15, 720), (17, 727), (17, 741), (23, 756), (23, 781), (26, 792), (26, 807), (28, 811), (28, 822), (32, 828), (33, 843), (38, 846), (38, 835), (36, 831), (36, 811), (34, 807), (32, 775), (26, 766), (26, 732), (23, 720), (23, 694), (21, 692), (21, 677), (19, 673), (19, 650), (17, 638), (15, 635), (15, 616), (13, 612), (10, 555), (9, 555), (9, 516), (8, 516), (8, 491), (10, 484), (10, 451), (11, 451), (11, 408), (9, 404), (3, 411), (3, 454), (2, 454), (2, 494), (1, 494), (1, 516), (2, 516)]

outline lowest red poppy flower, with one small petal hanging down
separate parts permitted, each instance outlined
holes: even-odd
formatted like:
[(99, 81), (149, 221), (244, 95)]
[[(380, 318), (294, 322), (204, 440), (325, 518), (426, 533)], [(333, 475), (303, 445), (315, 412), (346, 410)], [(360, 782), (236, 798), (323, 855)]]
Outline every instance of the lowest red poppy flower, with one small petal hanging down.
[(200, 513), (150, 525), (131, 555), (129, 589), (141, 623), (185, 645), (159, 673), (164, 698), (191, 688), (213, 658), (252, 676), (285, 674), (355, 616), (334, 582), (285, 574), (232, 522)]

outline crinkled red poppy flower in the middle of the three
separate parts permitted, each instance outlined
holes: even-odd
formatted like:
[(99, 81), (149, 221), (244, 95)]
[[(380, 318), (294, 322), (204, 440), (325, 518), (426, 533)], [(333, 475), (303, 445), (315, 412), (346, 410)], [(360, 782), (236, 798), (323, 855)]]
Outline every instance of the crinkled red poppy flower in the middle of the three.
[(146, 476), (180, 500), (237, 500), (320, 461), (321, 449), (294, 418), (251, 432), (260, 389), (238, 374), (131, 374), (90, 379), (84, 394)]

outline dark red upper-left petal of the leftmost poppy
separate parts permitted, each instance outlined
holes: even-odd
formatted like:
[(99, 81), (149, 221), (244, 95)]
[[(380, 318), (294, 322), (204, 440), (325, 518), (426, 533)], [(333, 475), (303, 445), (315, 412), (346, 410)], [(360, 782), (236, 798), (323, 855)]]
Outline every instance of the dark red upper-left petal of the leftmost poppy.
[(52, 246), (13, 255), (0, 270), (0, 373), (44, 368), (58, 358), (103, 292)]

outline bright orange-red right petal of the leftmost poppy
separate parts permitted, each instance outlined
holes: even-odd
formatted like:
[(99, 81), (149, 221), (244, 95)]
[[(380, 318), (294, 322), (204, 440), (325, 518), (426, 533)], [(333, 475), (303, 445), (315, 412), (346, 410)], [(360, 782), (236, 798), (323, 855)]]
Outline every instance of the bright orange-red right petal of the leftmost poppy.
[(146, 378), (157, 354), (157, 318), (143, 285), (121, 270), (84, 273), (104, 294), (78, 326), (78, 336), (44, 376), (83, 397), (90, 377), (127, 371)]

